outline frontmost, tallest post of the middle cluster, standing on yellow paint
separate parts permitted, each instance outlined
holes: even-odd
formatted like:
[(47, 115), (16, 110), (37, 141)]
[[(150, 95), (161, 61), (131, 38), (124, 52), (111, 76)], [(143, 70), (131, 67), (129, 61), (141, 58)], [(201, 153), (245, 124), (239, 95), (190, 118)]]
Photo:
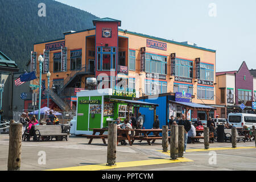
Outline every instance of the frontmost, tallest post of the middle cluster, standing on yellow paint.
[(171, 144), (170, 144), (171, 159), (176, 160), (178, 155), (178, 126), (171, 125)]

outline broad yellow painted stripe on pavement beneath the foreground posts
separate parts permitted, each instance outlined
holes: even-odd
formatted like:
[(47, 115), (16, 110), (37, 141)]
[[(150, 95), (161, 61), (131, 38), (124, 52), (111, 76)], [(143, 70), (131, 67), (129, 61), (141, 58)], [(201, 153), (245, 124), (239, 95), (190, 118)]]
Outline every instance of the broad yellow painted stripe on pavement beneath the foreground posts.
[(98, 170), (105, 170), (105, 169), (149, 166), (149, 165), (156, 165), (156, 164), (168, 164), (168, 163), (180, 163), (180, 162), (193, 162), (193, 160), (190, 160), (187, 158), (177, 158), (177, 160), (171, 160), (171, 159), (137, 160), (137, 161), (116, 163), (115, 166), (106, 166), (106, 164), (94, 164), (94, 165), (88, 165), (88, 166), (48, 169), (46, 171), (98, 171)]

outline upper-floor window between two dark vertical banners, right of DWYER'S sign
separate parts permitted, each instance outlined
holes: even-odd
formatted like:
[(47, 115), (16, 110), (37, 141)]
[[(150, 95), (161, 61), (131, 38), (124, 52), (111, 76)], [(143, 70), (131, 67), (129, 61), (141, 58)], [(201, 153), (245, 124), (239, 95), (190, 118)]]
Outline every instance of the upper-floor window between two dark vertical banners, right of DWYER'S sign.
[(193, 77), (193, 61), (184, 59), (175, 59), (175, 76), (192, 78)]

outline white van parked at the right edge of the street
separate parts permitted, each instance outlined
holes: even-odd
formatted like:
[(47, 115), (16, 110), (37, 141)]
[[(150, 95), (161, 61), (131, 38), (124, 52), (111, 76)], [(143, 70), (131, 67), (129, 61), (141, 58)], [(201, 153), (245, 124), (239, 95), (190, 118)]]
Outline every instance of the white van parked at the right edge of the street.
[(230, 113), (228, 123), (235, 127), (248, 126), (251, 129), (253, 125), (256, 126), (256, 114)]

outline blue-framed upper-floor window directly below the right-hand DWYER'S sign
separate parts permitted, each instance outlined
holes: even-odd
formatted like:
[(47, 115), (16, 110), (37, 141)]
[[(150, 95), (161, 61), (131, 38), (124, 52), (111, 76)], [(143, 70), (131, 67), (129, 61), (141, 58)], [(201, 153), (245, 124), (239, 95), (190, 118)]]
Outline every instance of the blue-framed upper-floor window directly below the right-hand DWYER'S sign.
[(147, 73), (167, 74), (167, 57), (146, 53), (145, 71)]

